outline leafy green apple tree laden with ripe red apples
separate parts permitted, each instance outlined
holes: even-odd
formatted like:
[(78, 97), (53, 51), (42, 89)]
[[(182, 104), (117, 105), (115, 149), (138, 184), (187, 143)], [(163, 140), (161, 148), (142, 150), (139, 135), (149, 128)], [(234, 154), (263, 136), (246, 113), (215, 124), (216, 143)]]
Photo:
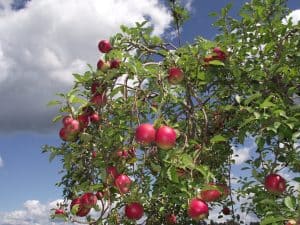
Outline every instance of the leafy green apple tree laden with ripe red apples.
[[(168, 4), (180, 40), (187, 11)], [(262, 224), (300, 219), (300, 178), (285, 177), (300, 172), (299, 24), (283, 0), (246, 3), (239, 19), (229, 11), (212, 13), (213, 41), (176, 45), (143, 22), (99, 42), (97, 66), (49, 103), (62, 143), (44, 151), (61, 160), (65, 198), (53, 217), (190, 225), (221, 207), (238, 224), (241, 212)], [(249, 137), (251, 175), (237, 178), (233, 147)]]

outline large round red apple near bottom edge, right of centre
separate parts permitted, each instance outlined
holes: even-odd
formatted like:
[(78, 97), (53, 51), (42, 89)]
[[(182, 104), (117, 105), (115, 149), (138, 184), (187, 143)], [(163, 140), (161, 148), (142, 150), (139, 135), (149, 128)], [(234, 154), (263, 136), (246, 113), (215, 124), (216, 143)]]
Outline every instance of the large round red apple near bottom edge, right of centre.
[(188, 215), (194, 220), (201, 220), (208, 216), (208, 205), (206, 202), (194, 198), (188, 206)]

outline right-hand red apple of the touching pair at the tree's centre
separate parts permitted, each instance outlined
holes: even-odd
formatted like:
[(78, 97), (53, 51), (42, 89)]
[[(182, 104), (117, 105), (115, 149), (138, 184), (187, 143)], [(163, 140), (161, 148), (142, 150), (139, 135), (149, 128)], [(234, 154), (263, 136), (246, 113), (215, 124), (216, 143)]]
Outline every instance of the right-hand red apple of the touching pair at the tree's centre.
[(170, 149), (175, 146), (176, 132), (173, 128), (168, 126), (161, 126), (156, 131), (155, 143), (161, 149)]

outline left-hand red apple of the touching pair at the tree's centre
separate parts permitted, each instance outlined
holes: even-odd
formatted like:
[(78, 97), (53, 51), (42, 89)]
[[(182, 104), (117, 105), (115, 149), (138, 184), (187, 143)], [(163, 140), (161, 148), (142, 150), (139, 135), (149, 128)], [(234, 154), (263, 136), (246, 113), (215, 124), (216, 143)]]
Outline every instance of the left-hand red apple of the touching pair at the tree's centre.
[(152, 124), (144, 123), (137, 127), (135, 139), (138, 143), (148, 145), (155, 140), (155, 129)]

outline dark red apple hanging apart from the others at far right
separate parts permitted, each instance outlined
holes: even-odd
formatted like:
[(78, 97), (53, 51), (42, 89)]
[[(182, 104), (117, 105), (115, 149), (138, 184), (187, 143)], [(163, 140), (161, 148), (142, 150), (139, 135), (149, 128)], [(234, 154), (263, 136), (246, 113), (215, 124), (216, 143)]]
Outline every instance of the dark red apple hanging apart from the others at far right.
[(281, 194), (286, 189), (286, 181), (279, 174), (272, 173), (265, 177), (265, 188), (274, 194)]

